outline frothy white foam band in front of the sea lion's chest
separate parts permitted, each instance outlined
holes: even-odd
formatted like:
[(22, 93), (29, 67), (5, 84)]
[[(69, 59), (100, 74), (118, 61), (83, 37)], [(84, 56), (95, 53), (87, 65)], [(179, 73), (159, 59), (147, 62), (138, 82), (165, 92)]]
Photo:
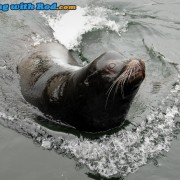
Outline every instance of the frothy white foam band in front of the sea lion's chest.
[[(64, 142), (61, 146), (90, 170), (105, 177), (126, 176), (148, 160), (168, 152), (174, 137), (174, 118), (179, 115), (180, 79), (159, 108), (134, 130), (122, 130), (98, 141), (84, 139)], [(168, 100), (173, 106), (168, 105)]]

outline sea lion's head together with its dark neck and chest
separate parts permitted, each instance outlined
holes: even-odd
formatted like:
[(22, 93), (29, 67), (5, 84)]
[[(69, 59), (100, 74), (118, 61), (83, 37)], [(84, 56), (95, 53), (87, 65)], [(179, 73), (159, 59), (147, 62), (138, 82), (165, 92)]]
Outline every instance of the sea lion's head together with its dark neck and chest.
[(144, 61), (135, 58), (123, 60), (119, 53), (110, 51), (84, 69), (82, 81), (76, 86), (79, 119), (85, 118), (89, 122), (88, 131), (120, 125), (144, 80)]

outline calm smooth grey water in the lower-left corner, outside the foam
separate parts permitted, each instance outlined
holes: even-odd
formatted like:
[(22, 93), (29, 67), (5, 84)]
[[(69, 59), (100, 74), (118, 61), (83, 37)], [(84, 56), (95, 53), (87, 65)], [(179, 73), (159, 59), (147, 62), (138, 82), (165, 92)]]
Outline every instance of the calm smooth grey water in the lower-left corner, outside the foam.
[(30, 139), (9, 129), (0, 127), (0, 130), (1, 179), (87, 179), (87, 170), (77, 170), (74, 161), (42, 150)]

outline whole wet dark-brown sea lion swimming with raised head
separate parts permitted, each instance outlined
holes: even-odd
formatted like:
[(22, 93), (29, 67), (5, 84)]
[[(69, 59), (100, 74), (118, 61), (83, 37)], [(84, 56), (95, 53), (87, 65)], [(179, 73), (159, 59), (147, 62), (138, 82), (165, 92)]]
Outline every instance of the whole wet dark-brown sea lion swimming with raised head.
[(28, 102), (65, 124), (98, 132), (124, 122), (145, 64), (109, 51), (81, 67), (64, 46), (47, 43), (20, 62), (18, 73)]

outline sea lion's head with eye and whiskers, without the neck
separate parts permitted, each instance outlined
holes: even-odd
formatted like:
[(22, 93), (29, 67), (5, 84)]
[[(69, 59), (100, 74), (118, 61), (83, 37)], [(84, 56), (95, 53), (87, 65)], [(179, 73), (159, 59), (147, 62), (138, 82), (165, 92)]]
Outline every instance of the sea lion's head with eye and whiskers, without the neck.
[(143, 60), (124, 60), (119, 53), (110, 51), (90, 64), (89, 74), (84, 83), (94, 87), (100, 86), (101, 89), (107, 90), (107, 95), (115, 93), (123, 99), (138, 89), (144, 78)]

